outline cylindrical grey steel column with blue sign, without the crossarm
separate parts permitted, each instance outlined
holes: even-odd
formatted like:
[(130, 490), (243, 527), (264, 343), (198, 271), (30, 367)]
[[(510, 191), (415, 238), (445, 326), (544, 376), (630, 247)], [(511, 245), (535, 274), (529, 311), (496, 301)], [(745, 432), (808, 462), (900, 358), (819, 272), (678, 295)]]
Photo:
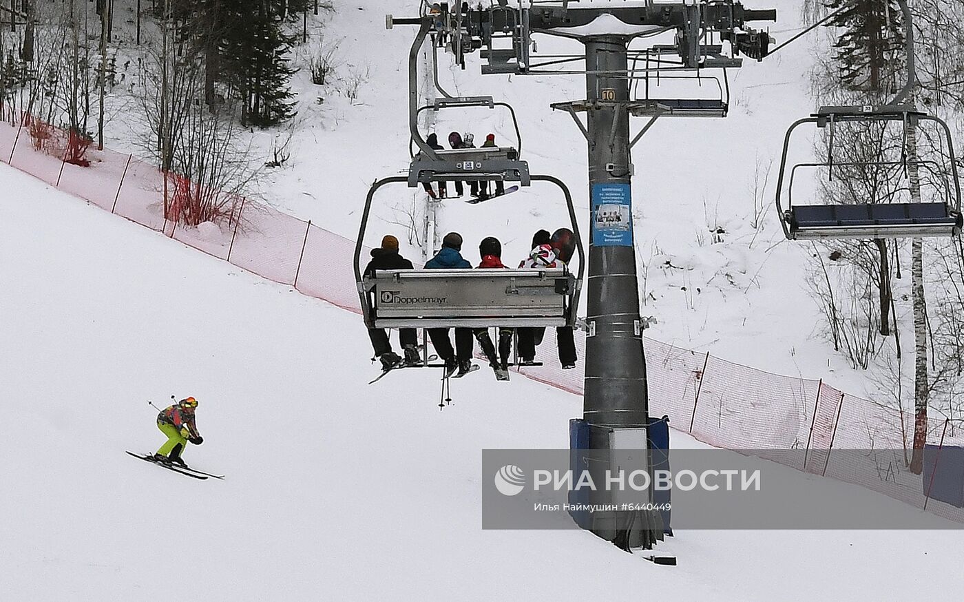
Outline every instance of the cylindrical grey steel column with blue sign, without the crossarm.
[(622, 36), (582, 41), (592, 211), (586, 319), (595, 325), (586, 340), (583, 418), (603, 426), (645, 426), (649, 407), (629, 205), (629, 41)]

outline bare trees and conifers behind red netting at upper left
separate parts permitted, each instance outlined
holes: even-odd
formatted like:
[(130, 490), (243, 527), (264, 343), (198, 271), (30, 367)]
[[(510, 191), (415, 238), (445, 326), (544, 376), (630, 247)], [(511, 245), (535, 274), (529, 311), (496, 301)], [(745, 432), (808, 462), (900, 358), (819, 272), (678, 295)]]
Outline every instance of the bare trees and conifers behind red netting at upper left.
[[(318, 0), (0, 0), (0, 113), (29, 125), (35, 145), (83, 164), (94, 139), (102, 148), (107, 96), (122, 97), (125, 110), (140, 109), (131, 124), (167, 175), (165, 217), (233, 214), (254, 173), (239, 134), (294, 116), (291, 53), (302, 37), (292, 32), (304, 19), (307, 39), (319, 6), (331, 9)], [(136, 37), (120, 19), (136, 23)]]

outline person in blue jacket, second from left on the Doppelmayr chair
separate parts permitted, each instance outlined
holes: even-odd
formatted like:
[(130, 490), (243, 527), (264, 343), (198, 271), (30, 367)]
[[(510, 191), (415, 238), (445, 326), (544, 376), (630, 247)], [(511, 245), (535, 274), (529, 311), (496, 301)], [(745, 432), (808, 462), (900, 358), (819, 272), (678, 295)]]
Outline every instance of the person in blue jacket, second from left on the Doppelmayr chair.
[[(471, 269), (472, 264), (462, 257), (461, 251), (462, 235), (447, 233), (442, 238), (442, 249), (434, 258), (425, 263), (425, 269)], [(483, 353), (489, 358), (490, 365), (494, 369), (498, 366), (495, 344), (493, 344), (489, 332), (484, 328), (475, 329), (474, 333), (471, 328), (456, 328), (454, 350), (452, 349), (452, 342), (448, 338), (447, 328), (429, 328), (427, 332), (429, 339), (435, 346), (436, 353), (445, 362), (446, 374), (451, 374), (455, 369), (458, 369), (459, 375), (462, 376), (471, 369), (472, 334), (478, 339)]]

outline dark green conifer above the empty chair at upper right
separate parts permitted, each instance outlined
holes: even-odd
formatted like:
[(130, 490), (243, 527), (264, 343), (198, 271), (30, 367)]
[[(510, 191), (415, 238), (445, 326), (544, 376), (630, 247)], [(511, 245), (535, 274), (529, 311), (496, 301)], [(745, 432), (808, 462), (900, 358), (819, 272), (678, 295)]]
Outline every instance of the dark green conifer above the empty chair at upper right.
[(903, 64), (903, 14), (897, 0), (826, 0), (844, 10), (827, 22), (843, 33), (834, 45), (841, 81), (851, 90), (886, 92)]

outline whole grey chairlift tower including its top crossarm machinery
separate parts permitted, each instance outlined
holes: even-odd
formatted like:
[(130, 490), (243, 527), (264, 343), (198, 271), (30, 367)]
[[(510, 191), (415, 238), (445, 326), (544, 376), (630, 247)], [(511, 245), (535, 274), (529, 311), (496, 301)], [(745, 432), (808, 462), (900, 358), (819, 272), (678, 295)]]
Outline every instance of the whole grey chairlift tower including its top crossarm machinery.
[[(766, 33), (747, 23), (775, 21), (776, 11), (744, 9), (736, 0), (521, 0), (511, 6), (507, 0), (497, 0), (487, 4), (491, 6), (423, 2), (419, 17), (388, 15), (387, 26), (428, 28), (463, 68), (466, 55), (479, 51), (486, 60), (484, 74), (585, 75), (585, 99), (551, 106), (567, 111), (588, 143), (591, 215), (583, 418), (595, 427), (589, 447), (609, 449), (609, 434), (614, 430), (645, 429), (649, 422), (642, 337), (646, 324), (640, 316), (633, 250), (629, 150), (659, 117), (725, 117), (729, 107), (726, 69), (741, 66), (736, 58), (740, 54), (762, 60), (770, 42)], [(543, 57), (533, 50), (535, 34), (579, 41), (585, 52), (551, 55), (540, 62)], [(630, 50), (630, 42), (650, 37), (670, 38), (672, 43)], [(584, 68), (560, 68), (570, 63), (584, 63)], [(723, 73), (719, 98), (651, 96), (659, 73), (689, 74), (699, 88), (701, 76), (706, 78), (703, 73), (710, 69)], [(633, 89), (638, 93), (639, 83), (644, 84), (644, 95), (631, 95)], [(580, 113), (586, 114), (585, 123)], [(631, 138), (630, 116), (649, 119)], [(413, 137), (423, 152), (432, 154), (417, 132)], [(649, 547), (651, 534), (645, 526), (654, 523), (646, 517), (637, 521), (629, 514), (594, 513), (590, 529), (606, 539), (622, 537), (628, 546)]]

